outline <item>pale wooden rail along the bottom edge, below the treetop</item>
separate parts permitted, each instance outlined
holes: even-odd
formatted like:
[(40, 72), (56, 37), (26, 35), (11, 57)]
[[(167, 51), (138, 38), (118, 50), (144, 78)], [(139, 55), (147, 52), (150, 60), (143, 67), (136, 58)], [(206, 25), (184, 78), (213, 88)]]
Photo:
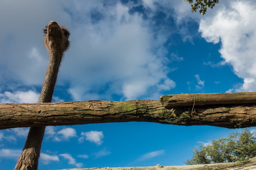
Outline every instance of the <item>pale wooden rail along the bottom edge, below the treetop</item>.
[(152, 167), (120, 167), (120, 168), (82, 168), (82, 169), (65, 169), (65, 170), (256, 170), (256, 157), (248, 161), (216, 163), (204, 165), (187, 165), (187, 166), (157, 166)]

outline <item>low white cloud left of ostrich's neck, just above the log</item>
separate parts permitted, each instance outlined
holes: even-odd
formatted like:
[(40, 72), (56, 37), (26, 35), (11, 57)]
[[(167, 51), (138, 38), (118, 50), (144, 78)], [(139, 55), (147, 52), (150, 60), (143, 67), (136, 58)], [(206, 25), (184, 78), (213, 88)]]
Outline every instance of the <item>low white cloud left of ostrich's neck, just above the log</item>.
[(29, 90), (27, 92), (0, 93), (0, 103), (33, 103), (37, 102), (40, 94)]

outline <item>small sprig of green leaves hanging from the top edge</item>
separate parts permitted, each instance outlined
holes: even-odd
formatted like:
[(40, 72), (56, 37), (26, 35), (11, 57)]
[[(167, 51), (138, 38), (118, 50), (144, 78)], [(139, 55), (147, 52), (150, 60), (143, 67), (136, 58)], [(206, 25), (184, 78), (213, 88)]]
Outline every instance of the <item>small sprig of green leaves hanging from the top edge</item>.
[(219, 0), (195, 0), (195, 3), (193, 3), (193, 0), (186, 0), (186, 1), (188, 1), (191, 4), (192, 12), (196, 12), (197, 9), (200, 8), (199, 12), (202, 15), (206, 13), (207, 7), (213, 8), (215, 4), (219, 3)]

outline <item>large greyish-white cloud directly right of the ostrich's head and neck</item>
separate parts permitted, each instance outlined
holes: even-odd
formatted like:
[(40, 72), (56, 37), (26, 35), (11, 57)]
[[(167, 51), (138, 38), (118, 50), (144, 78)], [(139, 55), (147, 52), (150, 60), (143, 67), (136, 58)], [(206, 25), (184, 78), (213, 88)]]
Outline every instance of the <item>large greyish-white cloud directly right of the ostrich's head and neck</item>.
[[(76, 41), (67, 52), (74, 57), (65, 57), (63, 63), (64, 76), (60, 78), (71, 82), (69, 93), (73, 99), (109, 99), (115, 93), (131, 100), (151, 88), (157, 91), (167, 79), (168, 69), (163, 57), (155, 56), (152, 49), (160, 48), (163, 42), (156, 41), (148, 23), (137, 14), (131, 15), (127, 6), (98, 5), (95, 10), (104, 19), (97, 24), (83, 23), (74, 31)], [(108, 89), (98, 94), (106, 84)]]

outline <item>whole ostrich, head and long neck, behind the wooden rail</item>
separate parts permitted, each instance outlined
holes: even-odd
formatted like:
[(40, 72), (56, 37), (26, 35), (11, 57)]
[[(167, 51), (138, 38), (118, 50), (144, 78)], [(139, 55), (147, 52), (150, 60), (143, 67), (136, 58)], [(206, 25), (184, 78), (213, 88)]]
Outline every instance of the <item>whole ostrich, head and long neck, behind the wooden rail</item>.
[[(69, 31), (64, 26), (59, 26), (55, 21), (50, 21), (44, 29), (45, 46), (49, 51), (50, 60), (46, 71), (46, 78), (38, 102), (51, 102), (54, 87), (64, 54), (69, 47)], [(23, 152), (18, 158), (14, 170), (37, 170), (41, 144), (46, 127), (30, 127)]]

